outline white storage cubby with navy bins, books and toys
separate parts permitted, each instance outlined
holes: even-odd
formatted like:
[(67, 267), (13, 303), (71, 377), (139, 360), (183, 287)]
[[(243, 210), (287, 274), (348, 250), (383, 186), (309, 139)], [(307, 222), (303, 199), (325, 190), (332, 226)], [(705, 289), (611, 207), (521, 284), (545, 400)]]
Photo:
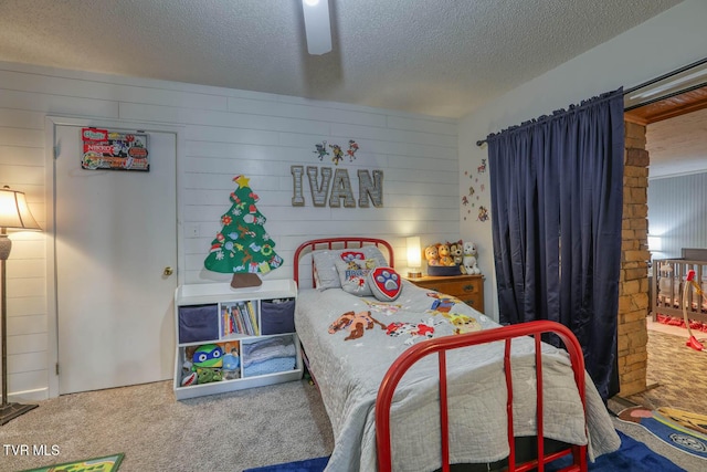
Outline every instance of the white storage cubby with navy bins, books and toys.
[[(228, 283), (179, 286), (175, 292), (175, 397), (182, 400), (300, 379), (296, 298), (292, 280), (264, 281), (247, 289)], [(217, 352), (224, 359), (229, 354), (230, 360), (236, 357), (238, 369), (209, 365), (209, 359), (218, 360)], [(194, 382), (182, 385), (182, 379)]]

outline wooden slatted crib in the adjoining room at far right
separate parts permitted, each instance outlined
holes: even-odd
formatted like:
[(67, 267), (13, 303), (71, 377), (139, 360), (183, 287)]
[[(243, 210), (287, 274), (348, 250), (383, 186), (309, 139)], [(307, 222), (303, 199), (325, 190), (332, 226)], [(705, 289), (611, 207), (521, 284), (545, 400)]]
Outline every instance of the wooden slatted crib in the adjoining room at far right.
[(680, 251), (682, 258), (656, 259), (653, 261), (651, 285), (651, 314), (653, 321), (662, 316), (683, 318), (683, 307), (690, 323), (707, 325), (707, 302), (695, 290), (684, 287), (687, 273), (695, 271), (695, 281), (707, 293), (707, 249), (687, 249)]

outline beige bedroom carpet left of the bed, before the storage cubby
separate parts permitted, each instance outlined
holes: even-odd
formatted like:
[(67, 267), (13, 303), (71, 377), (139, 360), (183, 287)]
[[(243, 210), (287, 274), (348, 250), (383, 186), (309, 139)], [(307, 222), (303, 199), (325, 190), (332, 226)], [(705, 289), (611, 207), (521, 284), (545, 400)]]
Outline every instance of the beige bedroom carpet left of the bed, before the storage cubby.
[(2, 444), (49, 444), (56, 457), (4, 454), (14, 472), (124, 452), (120, 472), (240, 472), (327, 455), (331, 427), (306, 381), (176, 401), (171, 381), (62, 396), (0, 427)]

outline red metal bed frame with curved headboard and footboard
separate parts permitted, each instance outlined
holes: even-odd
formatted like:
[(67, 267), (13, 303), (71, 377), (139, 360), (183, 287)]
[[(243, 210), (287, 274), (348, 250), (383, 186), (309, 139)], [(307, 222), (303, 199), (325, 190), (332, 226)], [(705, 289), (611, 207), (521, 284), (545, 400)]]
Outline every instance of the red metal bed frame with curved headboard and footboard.
[[(329, 238), (317, 239), (304, 242), (295, 251), (294, 279), (299, 281), (299, 259), (303, 252), (319, 249), (348, 249), (361, 248), (362, 245), (384, 247), (388, 251), (388, 261), (393, 265), (393, 250), (389, 242), (376, 238)], [(314, 274), (313, 274), (314, 286)], [(378, 468), (380, 472), (392, 471), (391, 455), (391, 431), (390, 431), (390, 408), (395, 392), (395, 388), (403, 375), (416, 361), (422, 358), (436, 354), (439, 359), (440, 374), (440, 423), (442, 428), (442, 471), (450, 471), (450, 439), (449, 439), (449, 406), (447, 406), (447, 381), (446, 381), (446, 353), (449, 350), (461, 347), (473, 346), (484, 343), (493, 343), (503, 340), (504, 349), (504, 373), (506, 377), (507, 390), (507, 424), (508, 424), (508, 471), (530, 471), (538, 470), (542, 472), (545, 465), (562, 457), (572, 454), (572, 463), (562, 469), (562, 471), (587, 471), (587, 445), (568, 445), (559, 451), (546, 454), (544, 444), (544, 400), (542, 400), (542, 354), (540, 349), (540, 337), (545, 333), (557, 335), (569, 354), (569, 358), (574, 373), (574, 382), (584, 409), (584, 423), (587, 423), (587, 403), (584, 398), (584, 357), (582, 348), (572, 332), (556, 322), (536, 321), (518, 325), (504, 326), (496, 329), (466, 333), (457, 336), (445, 336), (423, 340), (408, 348), (388, 369), (388, 373), (381, 381), (376, 400), (376, 441), (378, 448)], [(513, 381), (511, 381), (511, 360), (510, 344), (513, 338), (520, 336), (532, 336), (535, 339), (535, 357), (536, 357), (536, 388), (537, 388), (537, 459), (516, 464), (516, 445), (513, 429)]]

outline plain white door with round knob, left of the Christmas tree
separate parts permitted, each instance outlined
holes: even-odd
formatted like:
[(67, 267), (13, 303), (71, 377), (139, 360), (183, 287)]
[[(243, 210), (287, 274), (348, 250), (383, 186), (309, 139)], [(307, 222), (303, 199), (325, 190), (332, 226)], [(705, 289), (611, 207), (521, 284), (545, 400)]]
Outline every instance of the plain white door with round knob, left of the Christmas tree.
[(173, 371), (176, 134), (147, 132), (149, 171), (88, 170), (81, 129), (55, 126), (60, 395)]

